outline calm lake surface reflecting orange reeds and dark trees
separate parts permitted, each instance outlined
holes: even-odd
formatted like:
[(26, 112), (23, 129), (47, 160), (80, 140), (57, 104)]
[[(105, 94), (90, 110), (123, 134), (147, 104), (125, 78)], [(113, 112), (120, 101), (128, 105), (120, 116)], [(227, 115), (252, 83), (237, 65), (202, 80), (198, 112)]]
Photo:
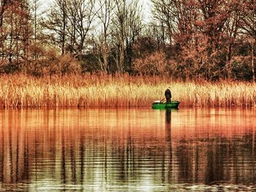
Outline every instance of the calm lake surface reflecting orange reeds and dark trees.
[(256, 109), (0, 110), (0, 191), (256, 191)]

